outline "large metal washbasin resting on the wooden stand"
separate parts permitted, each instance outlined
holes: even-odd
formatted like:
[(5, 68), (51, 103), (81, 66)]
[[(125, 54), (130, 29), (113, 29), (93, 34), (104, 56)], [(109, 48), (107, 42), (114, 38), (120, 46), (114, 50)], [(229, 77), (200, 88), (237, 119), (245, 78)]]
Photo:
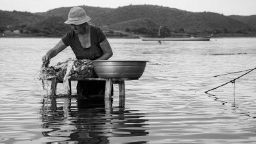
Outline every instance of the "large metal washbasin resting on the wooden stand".
[(100, 78), (140, 78), (147, 61), (95, 60), (93, 67)]

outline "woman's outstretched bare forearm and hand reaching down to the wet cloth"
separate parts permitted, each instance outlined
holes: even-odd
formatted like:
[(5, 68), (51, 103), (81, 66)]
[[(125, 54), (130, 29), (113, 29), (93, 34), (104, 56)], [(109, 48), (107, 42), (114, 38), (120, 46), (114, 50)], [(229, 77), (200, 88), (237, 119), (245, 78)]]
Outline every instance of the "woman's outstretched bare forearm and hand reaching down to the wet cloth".
[(55, 45), (51, 50), (49, 50), (45, 56), (43, 56), (42, 60), (43, 63), (49, 63), (51, 58), (53, 58), (54, 56), (56, 56), (58, 53), (60, 53), (62, 50), (64, 50), (66, 46), (62, 40), (60, 40), (57, 45)]

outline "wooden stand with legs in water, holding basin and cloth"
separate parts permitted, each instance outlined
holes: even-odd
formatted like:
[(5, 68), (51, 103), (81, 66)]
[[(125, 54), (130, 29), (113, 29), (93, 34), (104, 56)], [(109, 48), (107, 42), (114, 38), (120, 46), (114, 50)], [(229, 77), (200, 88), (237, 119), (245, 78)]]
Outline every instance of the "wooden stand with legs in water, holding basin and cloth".
[[(131, 80), (137, 80), (137, 79), (129, 79), (129, 78), (75, 78), (71, 77), (68, 82), (68, 86), (70, 90), (68, 91), (68, 95), (72, 94), (71, 90), (71, 81), (106, 81), (106, 86), (105, 86), (105, 99), (110, 98), (111, 92), (112, 92), (112, 84), (118, 84), (119, 87), (119, 98), (122, 98), (125, 96), (125, 81), (131, 81)], [(57, 89), (57, 84), (60, 83), (56, 78), (51, 79), (51, 95), (55, 96), (56, 95), (56, 89)]]

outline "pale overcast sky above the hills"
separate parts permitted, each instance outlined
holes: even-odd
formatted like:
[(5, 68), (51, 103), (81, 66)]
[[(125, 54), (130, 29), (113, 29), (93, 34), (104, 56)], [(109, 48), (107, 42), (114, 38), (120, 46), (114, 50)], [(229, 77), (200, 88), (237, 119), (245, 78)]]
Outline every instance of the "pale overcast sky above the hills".
[(58, 7), (78, 5), (117, 8), (144, 4), (192, 12), (217, 12), (224, 15), (256, 14), (256, 0), (0, 0), (0, 10), (46, 12)]

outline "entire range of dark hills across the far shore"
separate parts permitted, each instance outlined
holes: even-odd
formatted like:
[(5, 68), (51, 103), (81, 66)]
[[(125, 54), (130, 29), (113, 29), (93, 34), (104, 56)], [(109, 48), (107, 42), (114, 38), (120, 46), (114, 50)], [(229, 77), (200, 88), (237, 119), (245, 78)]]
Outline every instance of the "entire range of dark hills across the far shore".
[[(188, 12), (186, 10), (157, 5), (129, 5), (116, 9), (80, 6), (91, 17), (95, 26), (104, 26), (113, 31), (133, 31), (157, 35), (159, 26), (170, 33), (240, 33), (255, 35), (256, 16), (224, 16), (214, 12)], [(7, 12), (0, 10), (0, 32), (3, 29), (27, 29), (43, 34), (65, 33), (68, 27), (63, 22), (71, 7), (61, 7), (47, 12)], [(8, 26), (8, 28), (7, 28)], [(58, 28), (61, 27), (61, 28)], [(31, 31), (31, 29), (33, 29)], [(48, 30), (45, 30), (48, 29)], [(13, 29), (12, 29), (13, 30)]]

